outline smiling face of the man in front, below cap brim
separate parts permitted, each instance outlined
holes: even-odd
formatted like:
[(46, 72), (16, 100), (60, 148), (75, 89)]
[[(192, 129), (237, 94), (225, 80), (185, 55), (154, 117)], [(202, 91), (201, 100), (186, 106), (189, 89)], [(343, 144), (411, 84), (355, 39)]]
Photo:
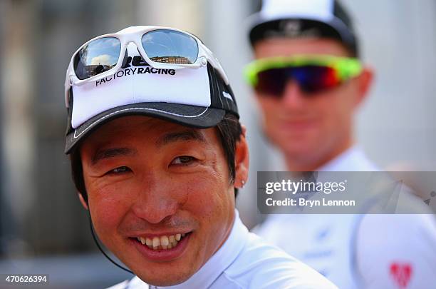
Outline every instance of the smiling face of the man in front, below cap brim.
[(86, 139), (81, 159), (95, 231), (147, 283), (187, 280), (232, 228), (234, 186), (215, 128), (118, 118)]

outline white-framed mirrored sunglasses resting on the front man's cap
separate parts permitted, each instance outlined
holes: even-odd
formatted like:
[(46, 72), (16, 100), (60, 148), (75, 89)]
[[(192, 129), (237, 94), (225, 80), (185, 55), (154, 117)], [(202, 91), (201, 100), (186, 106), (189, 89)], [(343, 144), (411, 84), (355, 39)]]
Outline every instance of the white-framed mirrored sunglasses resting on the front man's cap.
[(97, 81), (122, 69), (128, 61), (127, 46), (131, 42), (144, 61), (155, 69), (197, 69), (209, 63), (229, 83), (218, 59), (196, 36), (167, 27), (134, 26), (83, 44), (71, 57), (66, 88)]

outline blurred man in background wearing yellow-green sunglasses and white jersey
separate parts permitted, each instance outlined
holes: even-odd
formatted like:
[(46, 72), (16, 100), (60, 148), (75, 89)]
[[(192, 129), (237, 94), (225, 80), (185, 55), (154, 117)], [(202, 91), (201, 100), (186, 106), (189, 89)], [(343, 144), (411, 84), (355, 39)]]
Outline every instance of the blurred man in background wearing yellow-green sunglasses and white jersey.
[[(289, 171), (378, 171), (353, 138), (373, 71), (358, 59), (346, 10), (265, 0), (250, 21), (256, 61), (246, 76)], [(436, 278), (433, 216), (273, 215), (256, 233), (340, 288), (429, 288)]]

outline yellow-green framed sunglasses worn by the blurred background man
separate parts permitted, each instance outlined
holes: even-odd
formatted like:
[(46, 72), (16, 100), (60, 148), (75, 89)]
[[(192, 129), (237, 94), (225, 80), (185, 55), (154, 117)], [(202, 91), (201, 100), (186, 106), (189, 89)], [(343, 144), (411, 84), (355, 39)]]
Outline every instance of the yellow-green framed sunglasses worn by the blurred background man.
[(283, 95), (290, 80), (310, 96), (340, 86), (361, 72), (358, 59), (326, 55), (258, 59), (244, 70), (246, 81), (257, 92), (276, 97)]

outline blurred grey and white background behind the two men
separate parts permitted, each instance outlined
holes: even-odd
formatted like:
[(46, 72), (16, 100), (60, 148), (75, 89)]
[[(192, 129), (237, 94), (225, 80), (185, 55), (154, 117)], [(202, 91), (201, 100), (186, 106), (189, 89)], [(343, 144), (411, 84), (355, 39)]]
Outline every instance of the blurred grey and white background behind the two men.
[[(355, 16), (375, 86), (356, 119), (358, 141), (383, 168), (436, 169), (436, 2), (343, 0)], [(56, 284), (103, 287), (129, 278), (96, 253), (63, 154), (68, 61), (83, 42), (132, 25), (175, 26), (199, 36), (226, 69), (251, 150), (237, 206), (249, 227), (256, 171), (284, 169), (261, 136), (242, 78), (251, 60), (244, 19), (258, 1), (0, 1), (0, 273), (40, 270)], [(72, 274), (72, 272), (74, 274)]]

